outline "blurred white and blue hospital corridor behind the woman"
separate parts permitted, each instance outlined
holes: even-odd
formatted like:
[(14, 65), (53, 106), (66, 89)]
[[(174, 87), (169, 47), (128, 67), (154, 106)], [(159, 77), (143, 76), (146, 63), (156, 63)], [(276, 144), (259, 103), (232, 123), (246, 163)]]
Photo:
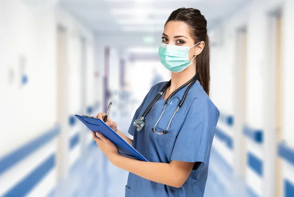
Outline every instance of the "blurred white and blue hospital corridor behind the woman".
[(294, 0), (0, 0), (0, 196), (124, 197), (128, 172), (73, 115), (112, 100), (128, 135), (170, 79), (157, 51), (183, 6), (208, 21), (221, 111), (205, 197), (294, 197)]

